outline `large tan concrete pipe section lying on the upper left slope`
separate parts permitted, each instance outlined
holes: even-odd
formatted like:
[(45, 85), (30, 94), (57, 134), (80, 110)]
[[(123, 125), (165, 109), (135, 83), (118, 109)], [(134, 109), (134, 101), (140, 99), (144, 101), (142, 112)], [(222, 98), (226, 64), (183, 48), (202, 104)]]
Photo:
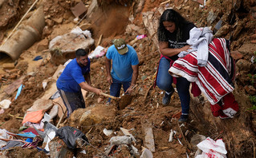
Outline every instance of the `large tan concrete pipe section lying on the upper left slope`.
[(24, 50), (41, 39), (44, 26), (43, 6), (40, 6), (26, 22), (18, 26), (18, 30), (0, 47), (0, 54), (6, 53), (12, 60), (17, 60)]

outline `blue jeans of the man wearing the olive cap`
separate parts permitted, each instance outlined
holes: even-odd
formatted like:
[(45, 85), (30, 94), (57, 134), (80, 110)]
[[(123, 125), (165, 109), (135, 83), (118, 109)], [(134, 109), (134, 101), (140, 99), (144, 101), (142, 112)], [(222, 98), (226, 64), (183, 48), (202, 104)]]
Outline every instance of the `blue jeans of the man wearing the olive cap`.
[[(110, 85), (110, 95), (114, 97), (120, 97), (120, 90), (123, 85), (124, 92), (130, 87), (131, 81), (118, 81), (112, 77), (112, 84)], [(110, 102), (111, 98), (108, 98)]]

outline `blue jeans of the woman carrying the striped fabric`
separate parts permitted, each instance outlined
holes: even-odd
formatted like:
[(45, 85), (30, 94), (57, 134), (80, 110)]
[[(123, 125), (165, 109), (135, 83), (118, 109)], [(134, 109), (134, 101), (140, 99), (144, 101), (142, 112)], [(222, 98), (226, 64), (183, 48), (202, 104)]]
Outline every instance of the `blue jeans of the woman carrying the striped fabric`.
[[(159, 63), (156, 85), (159, 89), (165, 90), (170, 93), (173, 91), (173, 77), (169, 74), (170, 62), (165, 57), (161, 58)], [(177, 77), (177, 91), (181, 100), (181, 109), (183, 114), (189, 114), (189, 85), (190, 82), (184, 77)]]

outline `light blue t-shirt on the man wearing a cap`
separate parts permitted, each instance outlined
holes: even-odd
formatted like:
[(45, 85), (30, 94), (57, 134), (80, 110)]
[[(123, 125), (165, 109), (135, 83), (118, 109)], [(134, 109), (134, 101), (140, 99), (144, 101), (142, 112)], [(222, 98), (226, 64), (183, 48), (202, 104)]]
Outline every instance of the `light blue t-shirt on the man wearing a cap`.
[(121, 55), (117, 52), (115, 45), (108, 48), (106, 57), (112, 60), (111, 75), (118, 81), (132, 81), (132, 65), (138, 65), (139, 59), (136, 50), (131, 45), (128, 46), (128, 52)]

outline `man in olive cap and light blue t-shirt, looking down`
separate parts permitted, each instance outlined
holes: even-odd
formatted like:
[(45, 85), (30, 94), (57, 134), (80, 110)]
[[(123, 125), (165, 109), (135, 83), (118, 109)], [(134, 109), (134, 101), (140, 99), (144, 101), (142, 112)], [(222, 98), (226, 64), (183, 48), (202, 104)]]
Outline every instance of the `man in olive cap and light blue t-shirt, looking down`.
[(136, 50), (131, 45), (126, 45), (124, 39), (115, 39), (112, 42), (114, 45), (108, 48), (105, 59), (107, 81), (111, 85), (110, 95), (120, 97), (122, 85), (125, 93), (132, 93), (138, 77), (139, 59)]

